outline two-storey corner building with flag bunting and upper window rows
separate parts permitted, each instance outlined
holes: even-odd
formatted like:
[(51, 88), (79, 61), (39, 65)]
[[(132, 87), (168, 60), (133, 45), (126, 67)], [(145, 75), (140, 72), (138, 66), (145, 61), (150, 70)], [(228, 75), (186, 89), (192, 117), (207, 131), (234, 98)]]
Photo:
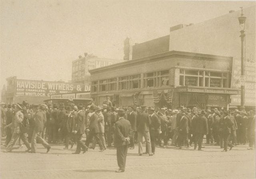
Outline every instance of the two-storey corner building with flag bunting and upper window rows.
[(232, 57), (169, 51), (90, 70), (91, 96), (115, 106), (224, 107), (231, 95)]

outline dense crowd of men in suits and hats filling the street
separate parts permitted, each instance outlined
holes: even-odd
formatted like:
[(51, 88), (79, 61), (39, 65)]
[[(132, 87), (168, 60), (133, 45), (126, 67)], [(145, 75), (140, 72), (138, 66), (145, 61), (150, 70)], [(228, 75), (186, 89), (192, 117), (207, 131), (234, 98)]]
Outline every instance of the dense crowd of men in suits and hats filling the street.
[[(176, 146), (203, 150), (203, 137), (206, 144), (219, 145), (223, 151), (236, 145), (246, 145), (253, 149), (255, 141), (255, 111), (219, 111), (217, 108), (203, 110), (155, 108), (133, 105), (116, 108), (109, 98), (101, 106), (92, 103), (83, 106), (70, 103), (53, 105), (22, 104), (5, 105), (1, 103), (1, 136), (6, 135), (6, 152), (11, 152), (17, 141), (23, 141), (30, 153), (36, 152), (36, 144), (41, 143), (47, 152), (49, 144), (64, 144), (64, 149), (76, 144), (74, 154), (85, 153), (88, 148), (99, 145), (103, 152), (107, 147), (119, 149), (122, 156), (118, 163), (120, 172), (124, 171), (128, 147), (134, 149), (138, 143), (138, 154), (152, 156), (156, 145), (166, 147), (168, 143)], [(117, 123), (120, 119), (125, 121)], [(124, 124), (126, 127), (122, 127)], [(82, 135), (86, 134), (85, 143)], [(143, 153), (143, 137), (146, 149)], [(31, 144), (30, 144), (31, 143)], [(92, 143), (92, 145), (90, 145)], [(90, 147), (89, 147), (90, 145)]]

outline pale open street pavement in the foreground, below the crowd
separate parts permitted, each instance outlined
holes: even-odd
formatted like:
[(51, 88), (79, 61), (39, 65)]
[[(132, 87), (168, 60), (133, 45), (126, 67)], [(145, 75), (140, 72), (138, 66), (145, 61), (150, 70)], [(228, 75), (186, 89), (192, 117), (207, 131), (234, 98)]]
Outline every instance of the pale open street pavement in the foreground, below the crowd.
[[(221, 152), (218, 146), (204, 145), (204, 151), (174, 149), (172, 146), (156, 148), (156, 154), (138, 156), (138, 146), (128, 150), (126, 171), (118, 169), (116, 149), (104, 152), (89, 149), (72, 155), (76, 149), (64, 150), (63, 145), (52, 145), (49, 153), (38, 144), (37, 153), (26, 153), (26, 147), (12, 153), (0, 153), (1, 179), (254, 179), (255, 150), (239, 145), (231, 151)], [(145, 147), (144, 147), (145, 149)]]

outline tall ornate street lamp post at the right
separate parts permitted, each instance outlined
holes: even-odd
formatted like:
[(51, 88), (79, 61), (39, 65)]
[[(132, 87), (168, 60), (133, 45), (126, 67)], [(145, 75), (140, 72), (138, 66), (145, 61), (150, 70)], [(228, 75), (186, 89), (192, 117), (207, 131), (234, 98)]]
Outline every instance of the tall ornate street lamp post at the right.
[(245, 21), (246, 17), (244, 17), (243, 14), (243, 8), (241, 7), (241, 16), (238, 18), (239, 24), (240, 24), (240, 32), (241, 32), (241, 105), (240, 110), (244, 110), (244, 86), (245, 86), (245, 76), (244, 76), (244, 27), (245, 27)]

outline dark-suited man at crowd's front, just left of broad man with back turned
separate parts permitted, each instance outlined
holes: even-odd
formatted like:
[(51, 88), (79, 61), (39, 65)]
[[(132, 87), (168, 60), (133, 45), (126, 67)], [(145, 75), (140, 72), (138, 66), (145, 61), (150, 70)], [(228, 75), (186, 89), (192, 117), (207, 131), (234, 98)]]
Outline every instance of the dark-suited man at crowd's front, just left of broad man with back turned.
[[(182, 110), (180, 112), (181, 118), (180, 121), (178, 123), (177, 121), (177, 126), (178, 126), (178, 139), (177, 139), (177, 143), (178, 143), (178, 149), (182, 149), (182, 142), (186, 141), (186, 143), (188, 143), (188, 118), (185, 116), (186, 113), (184, 110)], [(188, 143), (189, 145), (189, 143)], [(187, 148), (189, 148), (189, 146), (187, 146)]]

